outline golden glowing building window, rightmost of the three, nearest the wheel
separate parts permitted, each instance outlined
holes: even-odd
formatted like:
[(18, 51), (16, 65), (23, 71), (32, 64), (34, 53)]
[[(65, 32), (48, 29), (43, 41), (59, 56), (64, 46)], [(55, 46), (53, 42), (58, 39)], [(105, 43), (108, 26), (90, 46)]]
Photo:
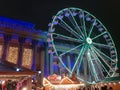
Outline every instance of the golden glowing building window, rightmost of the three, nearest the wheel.
[(24, 48), (22, 57), (22, 66), (31, 69), (33, 51), (30, 48)]

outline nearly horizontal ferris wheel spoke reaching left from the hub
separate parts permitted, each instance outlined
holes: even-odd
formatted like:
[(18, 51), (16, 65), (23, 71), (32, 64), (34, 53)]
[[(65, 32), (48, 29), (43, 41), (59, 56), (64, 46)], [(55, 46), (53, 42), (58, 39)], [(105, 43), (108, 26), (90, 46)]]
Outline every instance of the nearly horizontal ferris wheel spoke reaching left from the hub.
[(57, 33), (52, 33), (53, 35), (56, 35), (56, 39), (63, 39), (63, 40), (68, 40), (68, 41), (73, 41), (73, 42), (79, 42), (81, 43), (82, 41), (80, 39), (76, 39), (76, 38), (72, 38), (72, 37), (69, 37), (69, 36), (64, 36), (64, 35), (61, 35), (61, 34), (57, 34)]

